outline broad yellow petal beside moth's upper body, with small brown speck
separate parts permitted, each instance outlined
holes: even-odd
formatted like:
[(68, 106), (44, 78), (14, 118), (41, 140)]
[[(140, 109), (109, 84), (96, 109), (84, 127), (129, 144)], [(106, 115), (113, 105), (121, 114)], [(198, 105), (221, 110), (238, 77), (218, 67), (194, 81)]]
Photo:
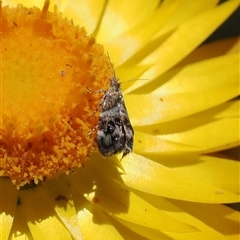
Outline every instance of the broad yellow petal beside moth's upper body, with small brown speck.
[[(238, 54), (231, 54), (199, 62), (183, 69), (152, 94), (126, 95), (133, 125), (178, 119), (234, 98), (239, 94), (238, 61)], [(137, 108), (139, 103), (141, 107)]]

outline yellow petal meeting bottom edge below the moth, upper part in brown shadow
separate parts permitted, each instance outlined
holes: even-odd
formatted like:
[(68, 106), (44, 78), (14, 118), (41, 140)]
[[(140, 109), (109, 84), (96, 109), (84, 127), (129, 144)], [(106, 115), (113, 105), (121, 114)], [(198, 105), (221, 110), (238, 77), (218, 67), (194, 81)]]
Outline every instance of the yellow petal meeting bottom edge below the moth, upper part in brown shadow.
[[(95, 159), (93, 159), (93, 164), (96, 163), (94, 160)], [(98, 161), (98, 159), (96, 160)], [(111, 170), (114, 166), (112, 164), (108, 164), (107, 166), (109, 166), (108, 170), (109, 174), (111, 174)], [(107, 214), (97, 205), (87, 201), (84, 197), (84, 195), (87, 195), (93, 190), (95, 186), (94, 182), (97, 186), (106, 186), (101, 178), (99, 179), (96, 177), (95, 169), (92, 169), (89, 167), (89, 164), (86, 164), (84, 169), (77, 169), (76, 174), (71, 174), (69, 176), (62, 175), (59, 180), (61, 183), (59, 187), (57, 187), (57, 190), (53, 190), (53, 192), (56, 191), (60, 193), (60, 195), (66, 194), (68, 191), (71, 193), (71, 197), (74, 201), (73, 207), (76, 209), (79, 228), (84, 239), (94, 239), (96, 237), (96, 232), (98, 233), (99, 239), (104, 239), (106, 235), (109, 236), (109, 239), (122, 239), (121, 235), (112, 225)], [(54, 185), (52, 185), (52, 187), (54, 187)], [(68, 194), (66, 195), (68, 196)], [(74, 230), (74, 228), (72, 230)]]

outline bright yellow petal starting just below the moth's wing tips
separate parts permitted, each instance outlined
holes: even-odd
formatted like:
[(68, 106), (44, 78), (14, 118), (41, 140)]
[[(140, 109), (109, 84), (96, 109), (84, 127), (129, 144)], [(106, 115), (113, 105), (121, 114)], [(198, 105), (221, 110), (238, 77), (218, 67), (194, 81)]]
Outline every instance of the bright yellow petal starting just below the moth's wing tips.
[[(193, 155), (183, 155), (182, 158), (179, 156), (179, 164), (182, 164), (182, 159), (187, 157), (189, 161)], [(197, 163), (198, 160), (195, 157), (195, 164)], [(196, 180), (193, 174), (185, 174), (184, 171), (178, 171), (177, 168), (165, 167), (133, 153), (124, 158), (123, 166), (126, 171), (126, 174), (122, 176), (124, 182), (127, 186), (139, 191), (193, 202), (230, 203), (239, 201), (238, 194), (222, 189), (221, 184), (211, 185), (208, 182)]]

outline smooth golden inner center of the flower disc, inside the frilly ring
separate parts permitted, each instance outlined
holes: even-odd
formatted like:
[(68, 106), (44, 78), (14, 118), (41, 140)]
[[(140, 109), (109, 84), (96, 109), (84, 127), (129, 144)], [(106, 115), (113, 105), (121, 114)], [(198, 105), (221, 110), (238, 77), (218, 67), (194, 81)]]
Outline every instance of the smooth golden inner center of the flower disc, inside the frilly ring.
[(2, 110), (23, 134), (40, 114), (56, 117), (71, 90), (73, 69), (61, 43), (37, 38), (29, 27), (12, 30), (3, 34)]

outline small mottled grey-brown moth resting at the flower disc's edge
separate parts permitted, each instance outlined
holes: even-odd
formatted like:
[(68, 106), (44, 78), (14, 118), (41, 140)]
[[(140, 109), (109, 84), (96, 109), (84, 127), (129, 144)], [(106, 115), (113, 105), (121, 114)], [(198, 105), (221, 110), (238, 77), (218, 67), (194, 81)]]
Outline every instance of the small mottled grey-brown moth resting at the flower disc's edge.
[(134, 130), (115, 74), (109, 90), (103, 92), (96, 138), (98, 149), (105, 157), (122, 152), (123, 158), (132, 151)]

